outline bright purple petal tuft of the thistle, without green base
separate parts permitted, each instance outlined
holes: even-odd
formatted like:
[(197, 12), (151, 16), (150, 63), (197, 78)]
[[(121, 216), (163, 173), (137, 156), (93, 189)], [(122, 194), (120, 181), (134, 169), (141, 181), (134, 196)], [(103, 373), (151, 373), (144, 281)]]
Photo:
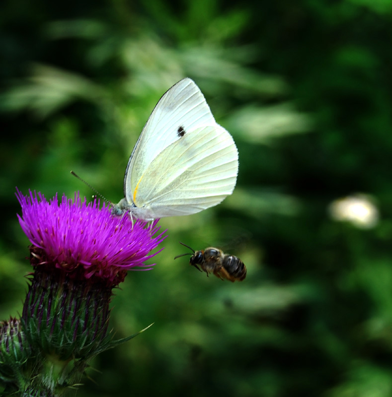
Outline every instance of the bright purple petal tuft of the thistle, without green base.
[[(145, 261), (165, 238), (157, 234), (157, 220), (149, 225), (130, 216), (111, 215), (108, 205), (74, 200), (64, 195), (47, 201), (41, 193), (16, 197), (22, 207), (19, 223), (33, 244), (34, 266), (48, 265), (63, 269), (69, 277), (98, 278), (112, 286), (124, 280), (127, 270), (151, 270)], [(42, 255), (43, 254), (43, 255)]]

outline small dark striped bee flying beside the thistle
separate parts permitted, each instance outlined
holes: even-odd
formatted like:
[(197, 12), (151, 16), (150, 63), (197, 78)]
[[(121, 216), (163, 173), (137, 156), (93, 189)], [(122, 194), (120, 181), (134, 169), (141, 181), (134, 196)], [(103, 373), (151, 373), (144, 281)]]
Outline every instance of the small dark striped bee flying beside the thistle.
[(199, 271), (205, 271), (207, 277), (209, 273), (214, 273), (221, 280), (226, 279), (232, 282), (235, 280), (242, 281), (246, 277), (246, 267), (239, 258), (225, 254), (222, 250), (214, 247), (208, 247), (204, 251), (195, 251), (184, 243), (180, 242), (180, 244), (189, 248), (193, 254), (177, 255), (174, 259), (191, 255), (189, 265), (195, 266)]

